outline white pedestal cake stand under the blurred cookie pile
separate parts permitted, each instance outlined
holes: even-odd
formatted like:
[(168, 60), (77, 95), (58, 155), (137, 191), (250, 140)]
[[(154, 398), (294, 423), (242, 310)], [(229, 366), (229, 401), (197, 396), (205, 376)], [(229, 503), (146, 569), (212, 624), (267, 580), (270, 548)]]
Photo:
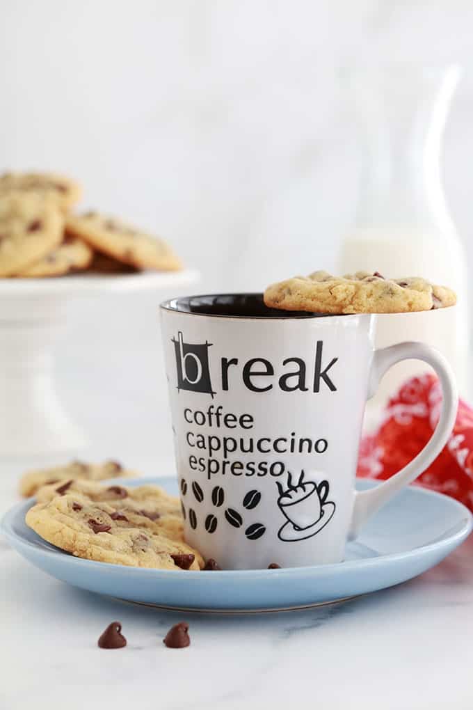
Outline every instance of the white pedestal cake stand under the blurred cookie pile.
[(0, 457), (33, 457), (80, 449), (84, 432), (55, 389), (57, 334), (79, 297), (159, 293), (196, 282), (185, 270), (126, 275), (0, 279)]

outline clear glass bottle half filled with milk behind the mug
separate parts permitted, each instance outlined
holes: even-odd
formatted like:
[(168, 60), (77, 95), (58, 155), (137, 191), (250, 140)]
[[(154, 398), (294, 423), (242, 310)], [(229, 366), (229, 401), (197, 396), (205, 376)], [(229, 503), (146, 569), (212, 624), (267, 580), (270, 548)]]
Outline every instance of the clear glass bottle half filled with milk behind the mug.
[[(365, 165), (356, 223), (343, 240), (338, 271), (422, 276), (454, 288), (455, 307), (380, 315), (376, 345), (429, 343), (450, 361), (460, 393), (467, 394), (466, 257), (440, 178), (443, 127), (459, 74), (456, 66), (393, 65), (350, 75)], [(417, 361), (391, 368), (374, 408), (426, 369)]]

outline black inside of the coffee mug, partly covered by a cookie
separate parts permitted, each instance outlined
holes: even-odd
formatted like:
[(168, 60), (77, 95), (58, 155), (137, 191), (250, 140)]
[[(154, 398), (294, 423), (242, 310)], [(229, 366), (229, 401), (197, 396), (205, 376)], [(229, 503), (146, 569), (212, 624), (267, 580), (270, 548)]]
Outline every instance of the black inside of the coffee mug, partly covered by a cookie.
[(262, 293), (218, 293), (204, 296), (172, 298), (162, 304), (167, 310), (196, 315), (216, 315), (230, 318), (317, 318), (328, 314), (306, 311), (286, 311), (268, 308)]

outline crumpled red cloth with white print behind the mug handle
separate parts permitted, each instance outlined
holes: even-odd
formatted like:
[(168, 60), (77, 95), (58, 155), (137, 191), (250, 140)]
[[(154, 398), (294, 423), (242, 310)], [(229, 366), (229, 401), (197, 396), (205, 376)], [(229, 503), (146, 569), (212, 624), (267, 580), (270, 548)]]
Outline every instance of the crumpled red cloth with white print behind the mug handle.
[[(432, 436), (441, 403), (435, 376), (408, 380), (389, 400), (378, 430), (362, 439), (357, 475), (388, 479), (408, 464)], [(445, 448), (416, 484), (457, 498), (473, 510), (473, 410), (464, 401)]]

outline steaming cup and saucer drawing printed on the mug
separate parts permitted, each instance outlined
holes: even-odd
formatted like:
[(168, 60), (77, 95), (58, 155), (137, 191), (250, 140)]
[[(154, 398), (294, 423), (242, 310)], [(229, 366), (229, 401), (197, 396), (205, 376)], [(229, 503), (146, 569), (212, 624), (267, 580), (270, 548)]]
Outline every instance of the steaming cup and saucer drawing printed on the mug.
[(319, 484), (304, 481), (304, 471), (294, 484), (292, 474), (288, 473), (287, 487), (277, 481), (279, 510), (286, 518), (286, 523), (278, 532), (279, 540), (291, 542), (313, 537), (335, 513), (335, 503), (328, 501), (330, 484), (323, 480)]

